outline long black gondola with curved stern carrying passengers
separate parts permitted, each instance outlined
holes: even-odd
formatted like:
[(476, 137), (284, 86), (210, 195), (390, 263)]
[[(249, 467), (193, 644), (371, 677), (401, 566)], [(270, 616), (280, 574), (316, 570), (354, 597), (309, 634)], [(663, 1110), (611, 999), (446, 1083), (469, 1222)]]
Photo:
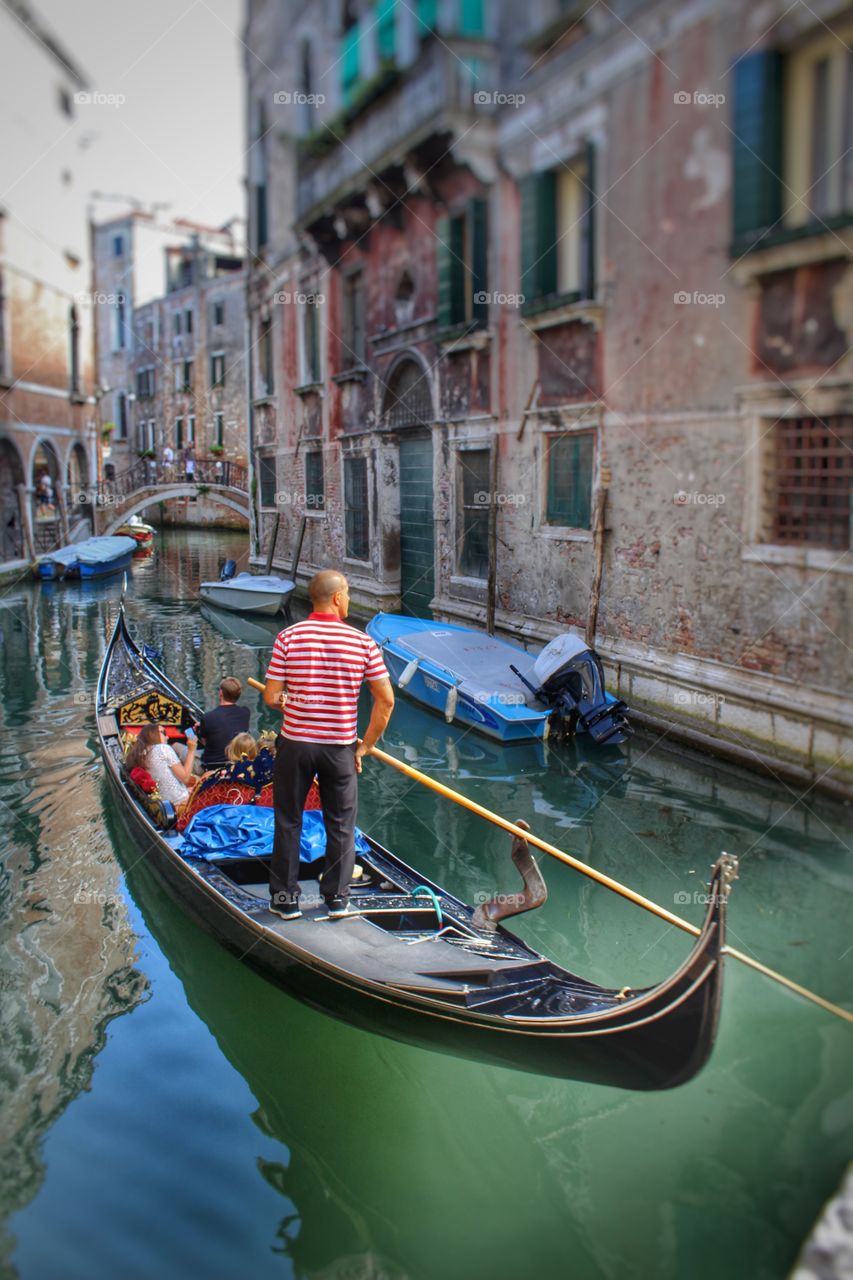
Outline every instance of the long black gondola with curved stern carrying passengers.
[(313, 864), (304, 868), (304, 915), (283, 922), (268, 910), (268, 856), (182, 850), (186, 837), (174, 829), (170, 806), (127, 774), (123, 732), (155, 719), (181, 732), (199, 716), (134, 644), (122, 604), (96, 691), (106, 776), (141, 856), (168, 892), (269, 980), (369, 1030), (555, 1076), (666, 1089), (707, 1061), (736, 859), (716, 863), (704, 924), (684, 963), (642, 989), (601, 987), (570, 973), (502, 924), (489, 927), (483, 908), (466, 905), (371, 837), (359, 854), (362, 877), (348, 918), (328, 918)]

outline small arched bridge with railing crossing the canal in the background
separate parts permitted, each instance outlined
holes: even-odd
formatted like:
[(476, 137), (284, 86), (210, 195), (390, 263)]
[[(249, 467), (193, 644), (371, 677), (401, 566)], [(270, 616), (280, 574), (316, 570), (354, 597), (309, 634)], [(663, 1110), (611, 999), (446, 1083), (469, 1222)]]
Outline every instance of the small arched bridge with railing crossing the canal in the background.
[(165, 466), (154, 458), (140, 458), (97, 485), (95, 531), (114, 534), (117, 529), (155, 502), (170, 498), (207, 498), (250, 518), (248, 467), (242, 462), (202, 458), (192, 477), (183, 465)]

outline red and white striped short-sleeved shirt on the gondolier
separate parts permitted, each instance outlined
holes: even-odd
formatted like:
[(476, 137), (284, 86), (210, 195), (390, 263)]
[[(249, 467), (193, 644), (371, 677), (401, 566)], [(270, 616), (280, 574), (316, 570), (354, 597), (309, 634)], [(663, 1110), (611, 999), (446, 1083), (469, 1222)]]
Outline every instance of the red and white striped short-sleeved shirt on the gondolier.
[(362, 680), (387, 680), (375, 640), (333, 613), (310, 613), (279, 631), (266, 671), (283, 680), (284, 737), (350, 746), (357, 737)]

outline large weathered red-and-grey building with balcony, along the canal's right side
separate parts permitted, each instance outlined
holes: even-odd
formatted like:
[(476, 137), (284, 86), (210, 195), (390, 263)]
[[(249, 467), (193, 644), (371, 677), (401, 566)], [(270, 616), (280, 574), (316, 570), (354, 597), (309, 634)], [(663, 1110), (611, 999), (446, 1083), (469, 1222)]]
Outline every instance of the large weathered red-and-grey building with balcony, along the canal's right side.
[[(260, 529), (850, 787), (850, 5), (251, 0)], [(263, 51), (260, 59), (251, 51)], [(601, 576), (601, 603), (590, 596)]]

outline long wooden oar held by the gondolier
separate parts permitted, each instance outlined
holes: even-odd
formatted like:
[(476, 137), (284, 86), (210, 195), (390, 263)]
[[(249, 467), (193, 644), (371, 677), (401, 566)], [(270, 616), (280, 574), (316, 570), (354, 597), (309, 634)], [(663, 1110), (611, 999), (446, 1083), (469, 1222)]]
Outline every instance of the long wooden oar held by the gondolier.
[[(259, 689), (261, 692), (264, 685), (257, 680), (248, 678), (248, 684), (252, 689)], [(508, 822), (500, 814), (493, 813), (491, 809), (485, 809), (483, 805), (476, 804), (475, 800), (469, 800), (467, 796), (461, 795), (459, 791), (453, 791), (452, 787), (446, 787), (443, 782), (435, 782), (434, 778), (428, 777), (419, 769), (414, 769), (411, 764), (405, 764), (393, 755), (388, 755), (387, 751), (382, 751), (378, 746), (374, 746), (371, 755), (383, 764), (389, 764), (392, 769), (397, 769), (400, 773), (405, 773), (406, 777), (412, 778), (415, 782), (420, 782), (423, 786), (429, 787), (439, 796), (444, 796), (446, 800), (452, 800), (453, 804), (461, 805), (462, 809), (469, 809), (471, 813), (478, 814), (480, 818), (485, 818), (487, 822), (494, 823), (496, 827), (502, 827), (503, 831), (508, 831), (511, 836), (517, 836), (520, 840), (526, 840), (529, 845), (534, 845), (540, 849), (544, 854), (549, 854), (551, 858), (556, 858), (558, 861), (565, 863), (567, 867), (574, 867), (575, 870), (581, 872), (581, 874), (588, 876), (590, 879), (597, 881), (606, 888), (612, 890), (621, 897), (626, 897), (629, 902), (635, 902), (638, 906), (644, 908), (651, 911), (652, 915), (660, 916), (661, 920), (666, 920), (667, 924), (674, 924), (676, 929), (684, 929), (685, 933), (692, 933), (698, 937), (702, 932), (695, 924), (690, 924), (689, 920), (683, 920), (680, 915), (675, 915), (674, 911), (667, 911), (665, 906), (660, 906), (658, 902), (653, 902), (648, 897), (643, 897), (642, 893), (637, 893), (633, 888), (626, 884), (621, 884), (619, 881), (612, 879), (597, 868), (590, 867), (588, 863), (581, 863), (580, 859), (573, 858), (571, 854), (564, 852), (562, 849), (557, 849), (556, 845), (549, 845), (547, 840), (539, 840), (534, 836), (532, 831), (524, 831), (521, 827), (516, 827), (514, 822)], [(835, 1014), (836, 1018), (841, 1018), (845, 1023), (853, 1023), (853, 1014), (848, 1012), (847, 1009), (841, 1009), (840, 1005), (833, 1005), (829, 1000), (824, 1000), (816, 992), (809, 991), (807, 987), (800, 987), (799, 983), (793, 982), (790, 978), (785, 978), (784, 974), (776, 973), (775, 969), (768, 969), (767, 965), (762, 964), (760, 960), (753, 960), (744, 951), (738, 951), (735, 947), (726, 946), (725, 954), (731, 956), (733, 960), (739, 960), (742, 964), (748, 965), (757, 973), (763, 973), (766, 978), (772, 978), (774, 982), (781, 983), (783, 987), (788, 987), (789, 991), (797, 992), (798, 996), (804, 996), (806, 1000), (813, 1001), (813, 1004), (820, 1005), (830, 1014)]]

